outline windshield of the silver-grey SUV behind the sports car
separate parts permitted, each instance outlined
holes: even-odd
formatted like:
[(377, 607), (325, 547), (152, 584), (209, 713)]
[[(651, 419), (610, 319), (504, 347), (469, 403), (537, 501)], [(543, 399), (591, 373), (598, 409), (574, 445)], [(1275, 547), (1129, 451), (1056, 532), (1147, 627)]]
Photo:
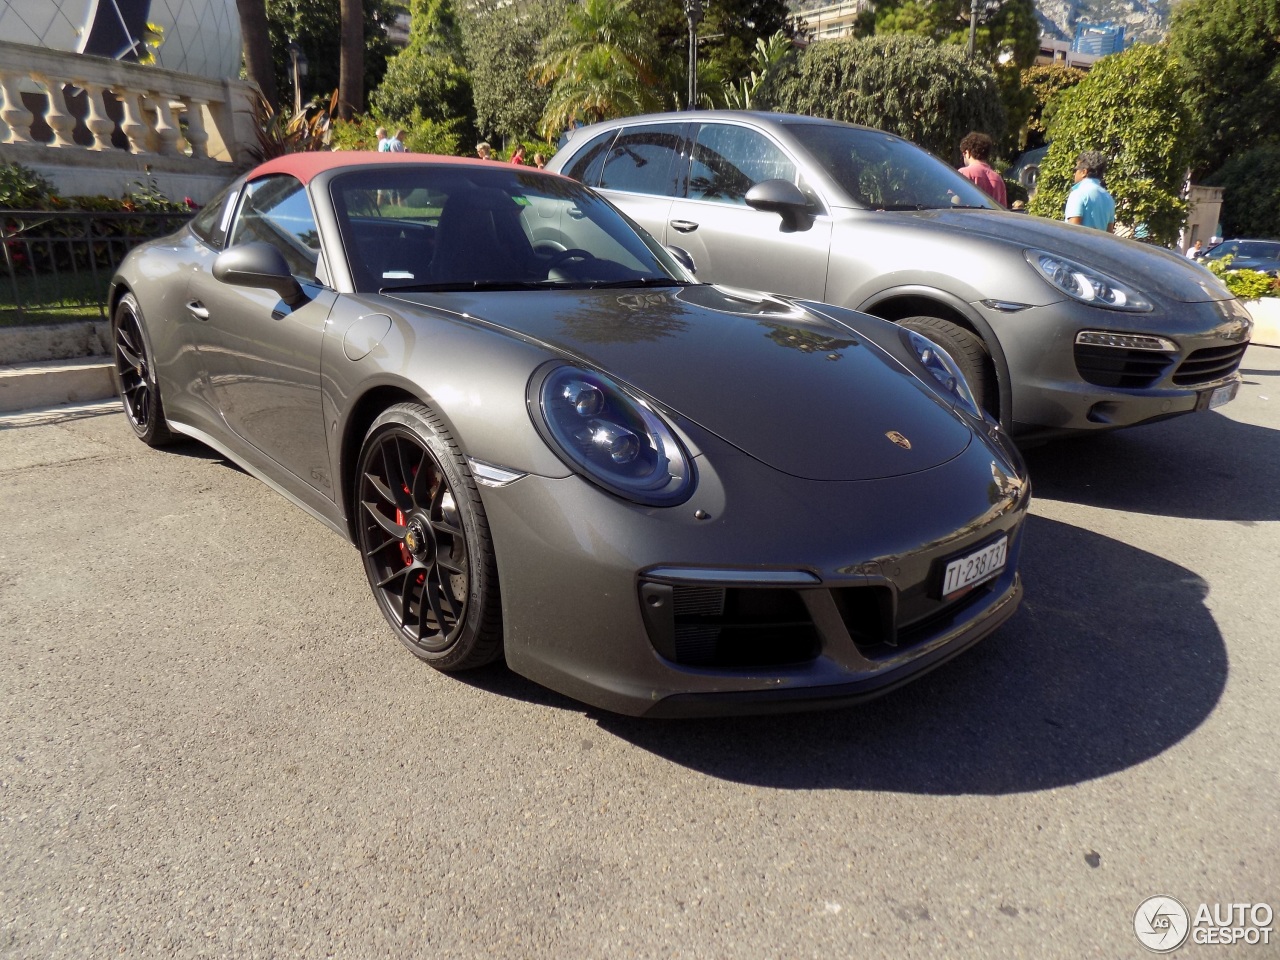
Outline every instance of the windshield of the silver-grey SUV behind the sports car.
[(786, 128), (859, 206), (998, 209), (973, 183), (901, 137), (835, 123), (788, 123)]

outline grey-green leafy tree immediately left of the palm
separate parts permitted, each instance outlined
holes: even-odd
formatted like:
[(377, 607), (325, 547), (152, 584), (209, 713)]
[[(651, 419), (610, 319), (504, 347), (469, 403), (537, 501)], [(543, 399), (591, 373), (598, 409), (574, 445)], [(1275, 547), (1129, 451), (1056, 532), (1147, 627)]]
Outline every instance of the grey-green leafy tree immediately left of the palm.
[(552, 33), (572, 0), (485, 0), (461, 15), (471, 69), (476, 128), (484, 136), (524, 138), (535, 132), (550, 88), (534, 83), (541, 38)]

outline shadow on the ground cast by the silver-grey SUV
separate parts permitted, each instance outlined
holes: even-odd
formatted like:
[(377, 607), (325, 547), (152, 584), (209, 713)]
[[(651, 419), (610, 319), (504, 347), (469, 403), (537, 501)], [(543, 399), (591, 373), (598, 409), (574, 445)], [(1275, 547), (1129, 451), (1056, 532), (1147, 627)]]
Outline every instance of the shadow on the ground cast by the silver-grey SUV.
[(1025, 460), (1034, 495), (1044, 499), (1165, 517), (1280, 520), (1280, 430), (1216, 412), (1055, 440)]

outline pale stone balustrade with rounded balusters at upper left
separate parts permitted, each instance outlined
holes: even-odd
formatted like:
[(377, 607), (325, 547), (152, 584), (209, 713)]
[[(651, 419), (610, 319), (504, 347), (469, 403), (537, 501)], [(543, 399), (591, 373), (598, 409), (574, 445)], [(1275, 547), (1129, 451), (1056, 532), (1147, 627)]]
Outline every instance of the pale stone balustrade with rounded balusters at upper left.
[(63, 193), (120, 196), (142, 175), (207, 200), (252, 161), (255, 88), (0, 42), (0, 160)]

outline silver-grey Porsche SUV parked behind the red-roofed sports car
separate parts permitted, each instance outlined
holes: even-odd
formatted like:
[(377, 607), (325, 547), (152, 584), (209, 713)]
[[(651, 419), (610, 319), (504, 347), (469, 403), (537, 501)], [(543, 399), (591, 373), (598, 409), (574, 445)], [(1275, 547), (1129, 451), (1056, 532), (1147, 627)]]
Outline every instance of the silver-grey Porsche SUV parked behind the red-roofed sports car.
[(550, 169), (599, 189), (699, 279), (928, 337), (1015, 435), (1208, 410), (1239, 387), (1251, 320), (1207, 270), (1000, 210), (890, 133), (749, 111), (630, 116), (573, 131)]

